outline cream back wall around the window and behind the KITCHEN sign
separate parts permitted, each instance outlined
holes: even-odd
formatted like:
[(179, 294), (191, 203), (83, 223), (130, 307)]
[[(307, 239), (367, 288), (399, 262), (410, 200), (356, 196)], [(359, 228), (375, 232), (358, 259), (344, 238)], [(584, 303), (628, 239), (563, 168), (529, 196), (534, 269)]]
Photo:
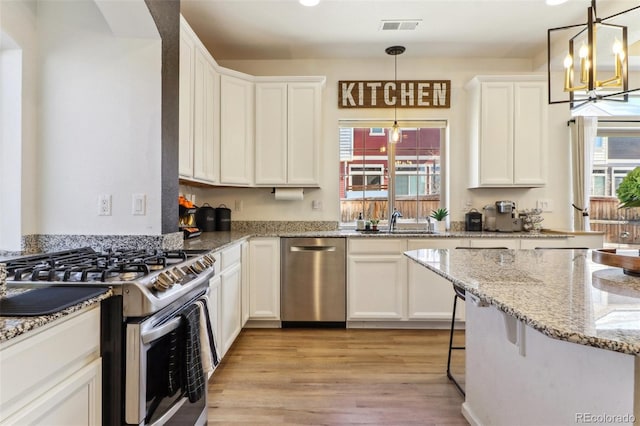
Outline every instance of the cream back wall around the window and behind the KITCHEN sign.
[[(391, 110), (341, 110), (338, 104), (339, 80), (378, 80), (394, 75), (393, 61), (381, 52), (379, 60), (299, 60), (299, 61), (220, 61), (220, 65), (252, 75), (324, 75), (322, 181), (321, 189), (305, 190), (304, 201), (274, 201), (270, 189), (181, 187), (181, 193), (196, 195), (196, 204), (224, 203), (233, 210), (233, 220), (339, 220), (338, 122), (340, 119), (388, 119)], [(544, 226), (567, 228), (570, 224), (568, 106), (549, 107), (548, 183), (539, 189), (467, 189), (467, 96), (464, 85), (478, 74), (531, 72), (528, 60), (398, 58), (398, 79), (450, 79), (451, 108), (447, 110), (399, 110), (398, 119), (446, 119), (450, 125), (449, 152), (451, 220), (464, 220), (464, 207), (470, 200), (481, 211), (496, 200), (516, 201), (518, 208), (535, 207), (537, 199), (550, 199), (552, 213), (545, 213)], [(322, 210), (312, 209), (312, 200), (322, 202)], [(236, 210), (241, 202), (242, 210)]]

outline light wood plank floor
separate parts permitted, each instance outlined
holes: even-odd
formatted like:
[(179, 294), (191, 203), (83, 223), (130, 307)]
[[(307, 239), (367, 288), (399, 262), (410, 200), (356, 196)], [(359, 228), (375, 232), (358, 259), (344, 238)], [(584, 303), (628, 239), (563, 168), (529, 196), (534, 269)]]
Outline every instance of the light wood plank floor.
[(448, 333), (245, 329), (209, 383), (209, 424), (467, 425)]

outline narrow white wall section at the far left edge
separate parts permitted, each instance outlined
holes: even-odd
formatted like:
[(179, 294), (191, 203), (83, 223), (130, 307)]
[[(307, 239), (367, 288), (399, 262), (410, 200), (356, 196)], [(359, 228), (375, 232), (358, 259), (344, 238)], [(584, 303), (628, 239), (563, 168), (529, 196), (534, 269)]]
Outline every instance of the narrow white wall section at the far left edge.
[(37, 222), (36, 4), (0, 1), (0, 249), (19, 250)]

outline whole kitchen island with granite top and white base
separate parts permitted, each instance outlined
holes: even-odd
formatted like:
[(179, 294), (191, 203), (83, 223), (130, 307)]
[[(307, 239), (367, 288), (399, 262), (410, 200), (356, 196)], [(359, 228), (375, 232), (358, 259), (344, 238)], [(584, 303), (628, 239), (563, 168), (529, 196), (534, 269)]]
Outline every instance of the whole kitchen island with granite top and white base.
[(640, 278), (589, 250), (405, 254), (466, 293), (471, 424), (638, 424)]

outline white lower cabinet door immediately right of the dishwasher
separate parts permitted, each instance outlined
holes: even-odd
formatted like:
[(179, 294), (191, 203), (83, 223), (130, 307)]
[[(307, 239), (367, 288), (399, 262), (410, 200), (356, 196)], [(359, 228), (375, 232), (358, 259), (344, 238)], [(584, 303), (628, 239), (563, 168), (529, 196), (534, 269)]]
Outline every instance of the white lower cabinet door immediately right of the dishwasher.
[(348, 319), (404, 319), (406, 267), (402, 253), (349, 255)]

